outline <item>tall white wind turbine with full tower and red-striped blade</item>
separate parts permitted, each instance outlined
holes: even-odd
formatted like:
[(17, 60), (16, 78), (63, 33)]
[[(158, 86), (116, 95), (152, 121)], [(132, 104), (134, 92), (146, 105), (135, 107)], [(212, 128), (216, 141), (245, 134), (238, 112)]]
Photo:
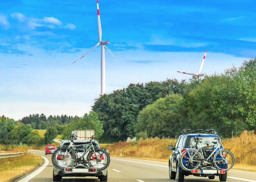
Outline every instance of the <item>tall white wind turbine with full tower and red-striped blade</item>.
[[(89, 50), (88, 53), (90, 53), (97, 46), (101, 45), (101, 95), (103, 95), (103, 94), (105, 94), (105, 48), (106, 48), (106, 50), (108, 50), (108, 48), (105, 45), (108, 44), (109, 41), (101, 40), (102, 31), (101, 31), (101, 19), (99, 17), (99, 2), (98, 2), (98, 0), (97, 0), (97, 16), (98, 16), (99, 42), (91, 50)], [(108, 52), (110, 52), (110, 50), (108, 50)], [(87, 55), (88, 53), (86, 53), (85, 55)], [(110, 52), (110, 54), (117, 60), (117, 58), (111, 52)], [(85, 55), (83, 55), (79, 59), (83, 58)], [(78, 61), (79, 59), (77, 59), (76, 61)], [(75, 63), (76, 61), (74, 61), (73, 63)]]

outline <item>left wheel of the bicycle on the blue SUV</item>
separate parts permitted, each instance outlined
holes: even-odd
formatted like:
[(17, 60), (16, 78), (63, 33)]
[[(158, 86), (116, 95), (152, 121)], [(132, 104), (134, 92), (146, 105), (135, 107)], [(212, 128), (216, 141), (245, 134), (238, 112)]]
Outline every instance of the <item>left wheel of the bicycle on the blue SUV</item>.
[(198, 169), (201, 162), (195, 161), (196, 159), (202, 159), (202, 155), (198, 150), (186, 149), (181, 153), (179, 164), (185, 171), (191, 171), (192, 169)]

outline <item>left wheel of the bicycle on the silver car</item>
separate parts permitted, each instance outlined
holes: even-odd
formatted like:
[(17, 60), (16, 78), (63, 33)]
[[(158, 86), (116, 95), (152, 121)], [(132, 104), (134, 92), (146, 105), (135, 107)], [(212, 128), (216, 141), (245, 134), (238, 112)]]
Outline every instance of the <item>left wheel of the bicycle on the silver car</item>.
[(52, 164), (58, 169), (72, 167), (76, 160), (76, 154), (70, 148), (59, 148), (52, 154)]

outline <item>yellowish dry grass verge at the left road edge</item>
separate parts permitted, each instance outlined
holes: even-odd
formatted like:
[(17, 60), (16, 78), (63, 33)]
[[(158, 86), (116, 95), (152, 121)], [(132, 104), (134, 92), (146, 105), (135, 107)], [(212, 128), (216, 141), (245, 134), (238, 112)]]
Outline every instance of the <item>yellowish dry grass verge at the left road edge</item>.
[(19, 175), (27, 173), (43, 162), (43, 158), (25, 153), (23, 156), (0, 159), (0, 182), (8, 182)]

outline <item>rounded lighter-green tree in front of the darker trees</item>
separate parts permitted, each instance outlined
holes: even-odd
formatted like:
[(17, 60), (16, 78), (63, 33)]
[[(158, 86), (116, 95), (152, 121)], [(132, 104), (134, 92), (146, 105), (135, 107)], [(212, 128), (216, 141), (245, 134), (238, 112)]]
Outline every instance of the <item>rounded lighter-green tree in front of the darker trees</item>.
[(170, 94), (147, 105), (139, 112), (135, 131), (146, 132), (148, 136), (175, 136), (180, 129), (179, 109), (182, 100), (181, 95)]

